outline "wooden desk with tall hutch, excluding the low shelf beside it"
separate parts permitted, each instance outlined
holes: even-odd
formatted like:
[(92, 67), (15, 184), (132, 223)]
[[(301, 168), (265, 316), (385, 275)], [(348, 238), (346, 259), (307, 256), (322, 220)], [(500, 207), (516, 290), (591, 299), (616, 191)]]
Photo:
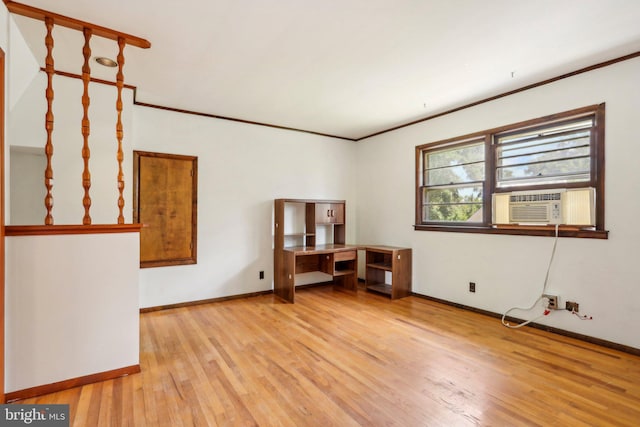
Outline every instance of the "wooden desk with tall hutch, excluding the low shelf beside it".
[(345, 244), (345, 223), (344, 200), (274, 201), (276, 295), (294, 302), (296, 277), (330, 277), (334, 285), (357, 289), (358, 248)]

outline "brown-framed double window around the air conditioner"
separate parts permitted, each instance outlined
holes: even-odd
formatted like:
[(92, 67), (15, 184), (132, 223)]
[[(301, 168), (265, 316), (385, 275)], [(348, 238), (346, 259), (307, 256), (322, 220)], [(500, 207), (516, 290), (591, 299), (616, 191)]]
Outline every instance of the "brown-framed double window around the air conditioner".
[(492, 224), (492, 195), (584, 187), (595, 189), (596, 227), (562, 235), (606, 238), (604, 104), (416, 147), (415, 228), (546, 235)]

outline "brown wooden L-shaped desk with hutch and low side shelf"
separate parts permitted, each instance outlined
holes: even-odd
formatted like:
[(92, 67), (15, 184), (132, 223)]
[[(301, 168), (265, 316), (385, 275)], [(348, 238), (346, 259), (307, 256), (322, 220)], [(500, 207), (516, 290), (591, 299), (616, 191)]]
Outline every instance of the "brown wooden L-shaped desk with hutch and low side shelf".
[(368, 290), (392, 299), (411, 294), (411, 249), (345, 244), (345, 211), (344, 200), (275, 200), (276, 295), (294, 302), (296, 285), (307, 283), (333, 282), (356, 291), (358, 250), (366, 251)]

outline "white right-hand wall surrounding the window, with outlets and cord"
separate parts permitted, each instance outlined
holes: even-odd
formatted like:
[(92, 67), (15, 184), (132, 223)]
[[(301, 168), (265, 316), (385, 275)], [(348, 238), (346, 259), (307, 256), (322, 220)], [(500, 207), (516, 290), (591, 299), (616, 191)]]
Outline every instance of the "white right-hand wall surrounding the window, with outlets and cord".
[(560, 239), (548, 288), (593, 320), (558, 311), (540, 323), (640, 348), (638, 75), (636, 58), (359, 142), (358, 241), (412, 247), (414, 292), (497, 313), (528, 307), (540, 294), (553, 239), (414, 231), (415, 147), (606, 102), (609, 239)]

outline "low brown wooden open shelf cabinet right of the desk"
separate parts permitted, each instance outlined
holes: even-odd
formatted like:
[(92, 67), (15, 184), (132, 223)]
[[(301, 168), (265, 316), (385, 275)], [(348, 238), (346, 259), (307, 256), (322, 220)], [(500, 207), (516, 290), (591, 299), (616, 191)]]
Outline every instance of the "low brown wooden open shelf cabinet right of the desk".
[[(411, 249), (366, 246), (365, 287), (391, 299), (411, 295)], [(390, 276), (390, 280), (387, 278)]]

